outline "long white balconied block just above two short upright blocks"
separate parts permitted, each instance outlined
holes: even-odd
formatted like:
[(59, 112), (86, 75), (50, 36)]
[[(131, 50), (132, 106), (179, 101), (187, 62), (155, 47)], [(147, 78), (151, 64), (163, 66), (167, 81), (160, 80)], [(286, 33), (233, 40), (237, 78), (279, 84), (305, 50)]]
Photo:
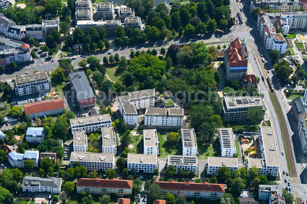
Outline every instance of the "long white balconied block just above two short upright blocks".
[(70, 128), (72, 133), (85, 131), (86, 133), (99, 131), (103, 127), (111, 127), (111, 118), (109, 114), (93, 115), (83, 118), (70, 119)]

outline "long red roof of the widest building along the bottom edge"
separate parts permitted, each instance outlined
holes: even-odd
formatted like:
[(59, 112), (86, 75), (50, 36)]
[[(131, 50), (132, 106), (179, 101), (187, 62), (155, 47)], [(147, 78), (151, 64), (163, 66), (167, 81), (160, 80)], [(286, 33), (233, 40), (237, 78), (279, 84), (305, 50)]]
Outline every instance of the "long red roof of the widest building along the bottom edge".
[(154, 181), (164, 191), (204, 191), (225, 193), (224, 184)]

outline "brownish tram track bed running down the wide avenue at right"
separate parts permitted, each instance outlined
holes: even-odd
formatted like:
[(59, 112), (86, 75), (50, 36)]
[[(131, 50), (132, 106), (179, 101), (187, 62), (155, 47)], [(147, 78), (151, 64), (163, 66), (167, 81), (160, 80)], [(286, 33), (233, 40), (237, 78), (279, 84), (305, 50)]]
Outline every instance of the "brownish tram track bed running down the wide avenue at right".
[[(255, 56), (255, 57), (257, 59), (256, 61), (261, 62), (260, 56)], [(291, 174), (291, 180), (292, 180), (291, 182), (293, 184), (299, 184), (299, 182), (297, 180), (297, 172), (296, 172), (296, 168), (295, 168), (295, 164), (294, 164), (294, 157), (293, 157), (293, 152), (292, 152), (291, 139), (290, 139), (290, 135), (289, 135), (289, 132), (288, 132), (287, 125), (286, 125), (286, 119), (285, 119), (284, 114), (282, 112), (282, 108), (281, 108), (279, 100), (276, 96), (274, 87), (271, 86), (270, 78), (269, 78), (266, 70), (264, 69), (263, 64), (260, 63), (259, 65), (261, 65), (260, 67), (261, 67), (261, 70), (262, 70), (263, 77), (266, 78), (267, 85), (269, 87), (269, 90), (271, 91), (271, 96), (273, 98), (275, 108), (276, 108), (276, 111), (277, 111), (278, 121), (279, 121), (280, 126), (282, 128), (281, 131), (282, 131), (282, 134), (283, 134), (284, 146), (285, 146), (285, 149), (286, 149), (286, 154), (287, 154), (288, 162), (289, 162), (289, 172)], [(299, 195), (295, 194), (294, 197), (296, 198), (297, 204), (302, 203), (302, 199), (299, 197)]]

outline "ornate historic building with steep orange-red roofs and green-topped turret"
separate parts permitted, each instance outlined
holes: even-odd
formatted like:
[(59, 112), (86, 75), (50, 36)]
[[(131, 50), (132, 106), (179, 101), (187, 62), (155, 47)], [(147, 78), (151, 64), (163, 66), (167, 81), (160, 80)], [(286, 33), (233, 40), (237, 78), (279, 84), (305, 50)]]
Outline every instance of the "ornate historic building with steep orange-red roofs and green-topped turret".
[(245, 39), (239, 38), (230, 43), (225, 50), (224, 66), (226, 69), (226, 79), (229, 82), (234, 80), (241, 81), (243, 74), (247, 72), (248, 50)]

